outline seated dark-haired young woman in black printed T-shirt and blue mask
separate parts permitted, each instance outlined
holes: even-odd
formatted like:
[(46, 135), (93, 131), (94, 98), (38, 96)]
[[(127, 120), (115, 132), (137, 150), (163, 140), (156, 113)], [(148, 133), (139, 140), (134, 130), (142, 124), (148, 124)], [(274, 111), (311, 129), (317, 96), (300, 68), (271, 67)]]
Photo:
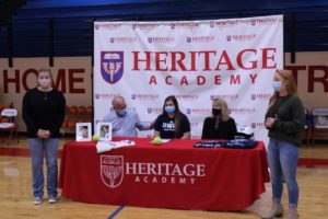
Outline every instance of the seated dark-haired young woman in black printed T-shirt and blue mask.
[(154, 137), (164, 139), (190, 138), (189, 120), (187, 116), (179, 111), (177, 100), (174, 95), (165, 99), (163, 113), (156, 118), (154, 129)]

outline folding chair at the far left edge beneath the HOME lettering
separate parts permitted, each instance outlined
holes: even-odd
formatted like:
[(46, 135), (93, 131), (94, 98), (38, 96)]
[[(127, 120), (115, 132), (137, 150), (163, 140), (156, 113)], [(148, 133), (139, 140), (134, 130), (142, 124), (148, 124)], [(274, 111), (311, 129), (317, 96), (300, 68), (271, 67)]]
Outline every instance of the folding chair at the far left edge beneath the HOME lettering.
[(17, 110), (15, 108), (4, 108), (1, 111), (0, 117), (0, 134), (1, 141), (3, 141), (2, 135), (9, 132), (9, 140), (14, 136), (19, 143), (19, 132), (16, 125)]

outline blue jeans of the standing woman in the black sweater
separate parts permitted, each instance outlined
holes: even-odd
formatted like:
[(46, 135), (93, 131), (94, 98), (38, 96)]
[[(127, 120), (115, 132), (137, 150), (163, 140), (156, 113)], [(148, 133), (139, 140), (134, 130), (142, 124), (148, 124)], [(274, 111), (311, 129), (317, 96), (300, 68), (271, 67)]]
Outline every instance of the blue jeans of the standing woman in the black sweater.
[(27, 143), (32, 157), (33, 193), (34, 197), (44, 196), (44, 155), (47, 164), (47, 191), (48, 197), (57, 197), (58, 165), (57, 154), (58, 138), (28, 138)]

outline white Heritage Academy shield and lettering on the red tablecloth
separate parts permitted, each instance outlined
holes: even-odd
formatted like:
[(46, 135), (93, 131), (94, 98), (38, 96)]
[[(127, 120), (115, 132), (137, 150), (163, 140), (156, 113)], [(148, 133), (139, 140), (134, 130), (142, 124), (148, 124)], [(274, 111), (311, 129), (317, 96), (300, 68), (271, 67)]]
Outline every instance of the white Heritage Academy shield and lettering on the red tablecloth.
[(109, 187), (118, 187), (125, 176), (129, 183), (138, 184), (180, 184), (202, 183), (207, 176), (202, 163), (145, 163), (124, 162), (122, 155), (101, 155), (101, 176)]

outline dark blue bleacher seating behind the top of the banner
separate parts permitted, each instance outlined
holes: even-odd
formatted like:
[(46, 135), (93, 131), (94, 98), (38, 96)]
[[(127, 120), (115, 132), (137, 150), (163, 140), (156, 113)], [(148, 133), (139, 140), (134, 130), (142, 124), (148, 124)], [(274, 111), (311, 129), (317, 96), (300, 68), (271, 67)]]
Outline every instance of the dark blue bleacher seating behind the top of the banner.
[[(200, 20), (284, 14), (284, 50), (328, 50), (328, 2), (243, 0), (7, 0), (25, 2), (11, 12), (13, 57), (92, 56), (93, 21)], [(295, 16), (294, 16), (295, 15)], [(295, 23), (293, 23), (295, 21)], [(8, 57), (8, 21), (0, 23), (0, 57)], [(54, 42), (49, 42), (52, 22)], [(295, 24), (295, 33), (292, 26)], [(320, 33), (320, 34), (318, 34)], [(292, 36), (295, 36), (292, 45)]]

